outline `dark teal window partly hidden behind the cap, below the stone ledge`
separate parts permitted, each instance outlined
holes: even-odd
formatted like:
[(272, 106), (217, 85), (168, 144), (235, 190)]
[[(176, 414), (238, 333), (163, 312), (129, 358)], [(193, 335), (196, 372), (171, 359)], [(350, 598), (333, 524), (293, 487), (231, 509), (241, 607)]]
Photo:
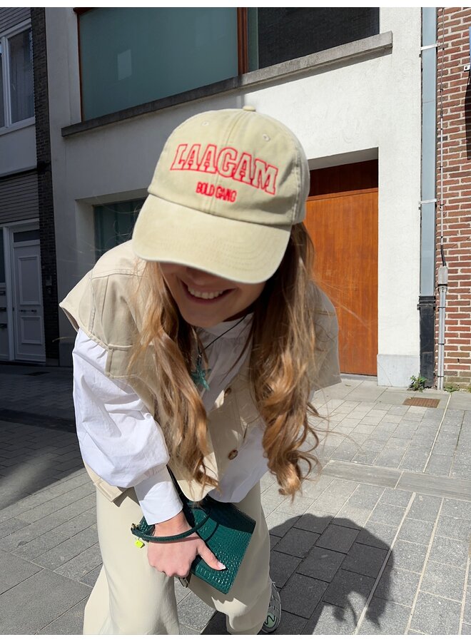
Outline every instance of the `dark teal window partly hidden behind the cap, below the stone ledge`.
[(96, 258), (131, 238), (134, 223), (141, 210), (144, 199), (126, 200), (123, 203), (97, 205), (95, 218)]

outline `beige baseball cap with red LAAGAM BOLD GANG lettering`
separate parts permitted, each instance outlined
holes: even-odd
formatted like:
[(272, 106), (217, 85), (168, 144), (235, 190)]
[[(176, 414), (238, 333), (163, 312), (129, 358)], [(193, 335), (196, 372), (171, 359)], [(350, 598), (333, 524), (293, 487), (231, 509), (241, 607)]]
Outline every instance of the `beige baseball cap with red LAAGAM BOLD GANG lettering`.
[(199, 113), (163, 148), (133, 250), (228, 280), (268, 280), (308, 191), (305, 153), (282, 123), (249, 106)]

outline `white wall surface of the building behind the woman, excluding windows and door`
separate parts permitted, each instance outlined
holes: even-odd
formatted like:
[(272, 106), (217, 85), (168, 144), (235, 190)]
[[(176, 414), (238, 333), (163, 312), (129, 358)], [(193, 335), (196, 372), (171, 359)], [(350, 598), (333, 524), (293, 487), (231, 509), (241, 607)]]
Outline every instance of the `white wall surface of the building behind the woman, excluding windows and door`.
[(62, 138), (80, 121), (76, 16), (46, 9), (59, 298), (93, 264), (93, 203), (145, 195), (168, 134), (193, 113), (252, 104), (295, 132), (312, 167), (378, 156), (378, 384), (407, 385), (420, 364), (420, 17), (420, 8), (380, 9), (388, 54)]

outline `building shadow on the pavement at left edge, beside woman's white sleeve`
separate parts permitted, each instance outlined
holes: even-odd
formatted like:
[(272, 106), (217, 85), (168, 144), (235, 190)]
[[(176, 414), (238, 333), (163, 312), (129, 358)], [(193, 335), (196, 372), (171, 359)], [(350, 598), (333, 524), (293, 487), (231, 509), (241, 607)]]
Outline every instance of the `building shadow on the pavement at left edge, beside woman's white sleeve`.
[(0, 509), (82, 466), (71, 369), (0, 364)]

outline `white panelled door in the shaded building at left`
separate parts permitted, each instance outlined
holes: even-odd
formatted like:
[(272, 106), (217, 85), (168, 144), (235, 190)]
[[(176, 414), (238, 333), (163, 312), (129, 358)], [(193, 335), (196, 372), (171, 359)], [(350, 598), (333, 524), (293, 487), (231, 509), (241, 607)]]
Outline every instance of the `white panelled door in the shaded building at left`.
[(44, 321), (39, 230), (12, 234), (15, 359), (44, 362)]

